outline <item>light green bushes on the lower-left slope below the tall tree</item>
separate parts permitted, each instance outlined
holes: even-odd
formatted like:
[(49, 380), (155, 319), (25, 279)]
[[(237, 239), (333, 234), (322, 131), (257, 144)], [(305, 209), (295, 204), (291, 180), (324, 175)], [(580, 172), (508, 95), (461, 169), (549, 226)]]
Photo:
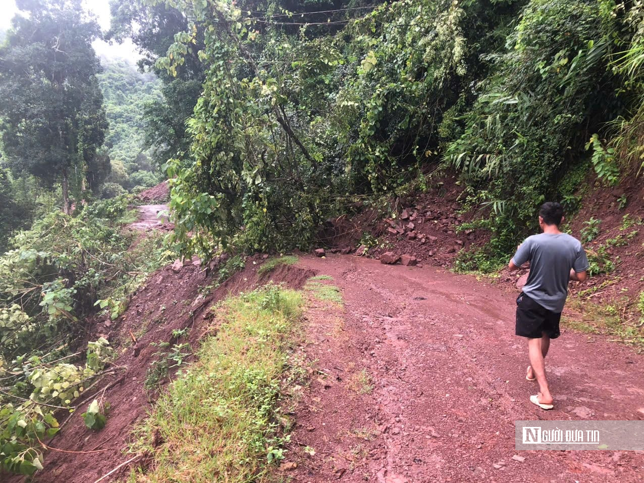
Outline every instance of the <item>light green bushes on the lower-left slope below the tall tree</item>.
[(130, 217), (128, 203), (95, 202), (75, 217), (49, 213), (17, 233), (0, 257), (0, 462), (8, 471), (41, 468), (39, 440), (58, 430), (53, 411), (74, 409), (112, 356), (102, 338), (88, 342), (84, 358), (72, 353), (97, 299), (122, 310), (129, 292), (164, 260), (159, 237), (128, 251), (134, 235), (120, 226)]

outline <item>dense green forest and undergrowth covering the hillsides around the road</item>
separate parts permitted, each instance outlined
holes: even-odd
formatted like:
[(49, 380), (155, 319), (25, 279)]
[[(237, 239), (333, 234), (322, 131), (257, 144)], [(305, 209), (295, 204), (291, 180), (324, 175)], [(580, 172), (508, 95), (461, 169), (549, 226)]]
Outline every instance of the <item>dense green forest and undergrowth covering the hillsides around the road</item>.
[[(497, 270), (547, 200), (641, 175), (644, 8), (612, 0), (19, 0), (0, 45), (0, 448), (42, 468), (161, 264), (308, 250), (330, 218), (464, 191)], [(3, 36), (0, 35), (0, 38)], [(91, 42), (132, 39), (138, 66)], [(175, 230), (134, 244), (128, 192), (169, 179)], [(82, 341), (82, 342), (79, 342)], [(104, 424), (92, 416), (91, 424)], [(94, 427), (94, 426), (90, 426)]]

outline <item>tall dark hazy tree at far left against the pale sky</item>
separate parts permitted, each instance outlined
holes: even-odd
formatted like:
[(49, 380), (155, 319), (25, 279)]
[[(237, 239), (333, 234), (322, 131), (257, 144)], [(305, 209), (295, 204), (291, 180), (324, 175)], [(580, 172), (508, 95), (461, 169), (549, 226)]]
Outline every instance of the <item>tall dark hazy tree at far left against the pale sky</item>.
[(107, 128), (100, 70), (91, 42), (99, 26), (80, 0), (19, 3), (24, 9), (0, 46), (0, 130), (14, 173), (51, 188), (61, 183), (62, 210), (70, 190), (81, 199), (109, 170), (98, 152)]

